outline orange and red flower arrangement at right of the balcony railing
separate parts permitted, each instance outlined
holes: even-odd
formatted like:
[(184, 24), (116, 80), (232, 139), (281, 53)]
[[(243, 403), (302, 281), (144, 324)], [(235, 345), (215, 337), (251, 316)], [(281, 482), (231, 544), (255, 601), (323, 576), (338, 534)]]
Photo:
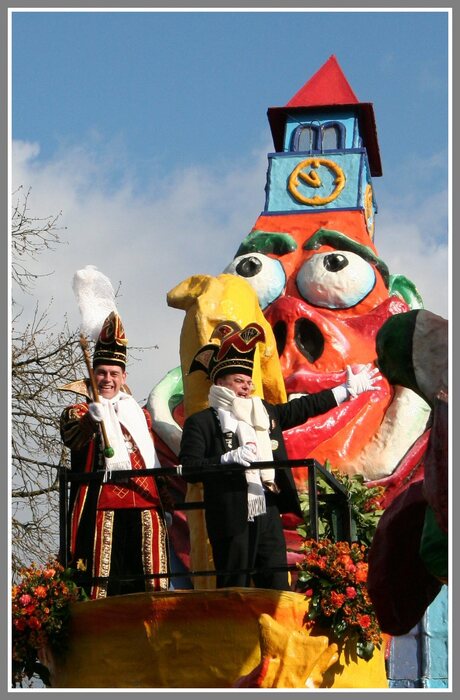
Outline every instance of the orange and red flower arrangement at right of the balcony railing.
[(329, 627), (369, 660), (383, 639), (367, 592), (367, 545), (306, 540), (302, 551), (297, 585), (311, 598), (307, 626)]

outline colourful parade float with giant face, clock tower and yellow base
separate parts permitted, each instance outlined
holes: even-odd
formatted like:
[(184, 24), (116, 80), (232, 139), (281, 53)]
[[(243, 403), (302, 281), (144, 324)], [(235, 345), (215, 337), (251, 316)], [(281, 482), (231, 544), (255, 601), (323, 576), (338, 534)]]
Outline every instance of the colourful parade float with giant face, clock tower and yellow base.
[[(374, 111), (357, 99), (335, 57), (284, 107), (270, 108), (268, 120), (275, 151), (268, 155), (262, 213), (234, 259), (226, 266), (222, 261), (221, 275), (193, 275), (168, 294), (168, 304), (185, 312), (181, 367), (152, 389), (147, 408), (157, 452), (171, 474), (184, 418), (204, 408), (209, 388), (201, 373), (187, 374), (190, 359), (219, 322), (263, 325), (256, 393), (280, 402), (340, 383), (346, 365), (374, 362), (383, 324), (423, 305), (413, 283), (379, 257), (372, 178), (382, 175), (382, 166)], [(423, 479), (431, 414), (426, 397), (385, 377), (370, 394), (286, 432), (289, 458), (300, 463), (294, 470), (299, 492), (312, 489), (311, 463), (380, 488), (384, 508)], [(366, 591), (365, 610), (354, 621), (343, 618), (347, 604), (349, 610), (357, 604), (351, 603), (356, 585), (365, 583), (366, 576), (356, 579), (357, 560), (350, 564), (355, 578), (344, 575), (340, 582), (350, 600), (337, 581), (329, 586), (329, 606), (332, 594), (335, 599), (329, 625), (324, 616), (314, 622), (319, 599), (311, 582), (302, 592), (215, 590), (200, 486), (187, 487), (178, 476), (169, 483), (176, 502), (171, 546), (193, 590), (181, 590), (173, 577), (175, 590), (167, 592), (72, 602), (65, 651), (45, 643), (40, 649), (53, 687), (445, 686), (445, 597), (435, 601), (437, 628), (428, 610), (405, 638), (409, 656), (422, 658), (423, 668), (417, 661), (415, 670), (398, 676), (392, 658), (403, 647), (396, 637), (376, 632), (372, 653), (362, 653), (356, 627), (362, 631), (374, 621)], [(283, 517), (288, 561), (293, 578), (301, 580), (313, 562), (301, 523)], [(343, 556), (350, 563), (350, 552)], [(339, 610), (340, 629), (332, 624)]]

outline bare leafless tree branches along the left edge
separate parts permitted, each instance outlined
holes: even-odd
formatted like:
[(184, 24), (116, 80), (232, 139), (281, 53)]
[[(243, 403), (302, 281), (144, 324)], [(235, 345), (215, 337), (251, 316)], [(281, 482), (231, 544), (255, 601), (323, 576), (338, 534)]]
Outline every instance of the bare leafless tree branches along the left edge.
[[(59, 434), (59, 417), (69, 403), (60, 387), (84, 376), (77, 332), (64, 316), (59, 328), (51, 320), (53, 300), (38, 304), (30, 318), (15, 302), (30, 293), (43, 274), (32, 271), (46, 250), (62, 241), (57, 216), (29, 214), (30, 190), (16, 191), (12, 212), (11, 461), (13, 575), (31, 561), (45, 562), (57, 552), (59, 533), (58, 474), (68, 466), (68, 451)], [(50, 272), (49, 274), (53, 274)]]

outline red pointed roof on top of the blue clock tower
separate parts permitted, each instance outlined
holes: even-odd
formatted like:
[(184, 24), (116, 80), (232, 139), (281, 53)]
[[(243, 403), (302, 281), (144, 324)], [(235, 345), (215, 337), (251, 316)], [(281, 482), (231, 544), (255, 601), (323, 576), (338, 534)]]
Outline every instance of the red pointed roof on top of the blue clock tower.
[(288, 114), (309, 109), (337, 111), (351, 107), (358, 114), (371, 174), (382, 174), (374, 108), (369, 102), (359, 102), (334, 55), (308, 80), (284, 107), (269, 107), (267, 115), (277, 152), (283, 150), (284, 129)]

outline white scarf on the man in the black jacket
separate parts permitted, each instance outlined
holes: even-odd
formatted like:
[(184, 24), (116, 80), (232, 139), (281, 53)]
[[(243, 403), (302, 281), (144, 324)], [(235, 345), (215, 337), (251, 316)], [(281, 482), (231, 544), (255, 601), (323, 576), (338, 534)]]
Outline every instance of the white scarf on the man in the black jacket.
[[(235, 433), (240, 445), (248, 442), (256, 445), (256, 459), (272, 462), (269, 427), (270, 418), (258, 396), (243, 398), (224, 386), (213, 384), (209, 390), (209, 405), (217, 411), (224, 433)], [(248, 520), (266, 512), (265, 494), (262, 484), (275, 480), (274, 469), (246, 469), (248, 484)]]

